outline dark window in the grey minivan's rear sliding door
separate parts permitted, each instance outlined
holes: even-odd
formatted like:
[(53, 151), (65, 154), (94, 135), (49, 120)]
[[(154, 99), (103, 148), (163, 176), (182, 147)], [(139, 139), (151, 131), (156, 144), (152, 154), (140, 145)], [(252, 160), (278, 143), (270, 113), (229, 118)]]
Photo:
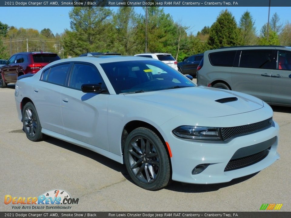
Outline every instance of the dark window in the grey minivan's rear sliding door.
[(272, 50), (243, 50), (239, 60), (239, 67), (273, 69)]

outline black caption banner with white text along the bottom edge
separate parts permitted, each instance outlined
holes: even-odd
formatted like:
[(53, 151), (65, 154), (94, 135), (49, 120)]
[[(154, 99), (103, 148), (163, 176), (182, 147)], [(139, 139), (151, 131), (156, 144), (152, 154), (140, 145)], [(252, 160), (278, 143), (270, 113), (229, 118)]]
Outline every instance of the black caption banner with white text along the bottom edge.
[(124, 217), (124, 218), (289, 218), (291, 212), (260, 211), (260, 212), (0, 212), (0, 217)]

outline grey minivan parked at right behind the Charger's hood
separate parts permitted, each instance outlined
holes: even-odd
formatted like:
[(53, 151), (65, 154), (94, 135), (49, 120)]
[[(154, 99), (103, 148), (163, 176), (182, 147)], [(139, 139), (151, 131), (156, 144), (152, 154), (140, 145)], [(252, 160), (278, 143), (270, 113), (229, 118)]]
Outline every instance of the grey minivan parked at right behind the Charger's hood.
[(244, 92), (291, 107), (291, 47), (237, 46), (206, 51), (197, 84)]

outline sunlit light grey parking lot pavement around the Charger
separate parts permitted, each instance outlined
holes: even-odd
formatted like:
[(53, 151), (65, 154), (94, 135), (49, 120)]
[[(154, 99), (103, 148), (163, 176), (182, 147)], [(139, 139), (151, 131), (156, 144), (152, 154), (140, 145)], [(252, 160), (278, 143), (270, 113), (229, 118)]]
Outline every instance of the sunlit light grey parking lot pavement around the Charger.
[(263, 203), (280, 203), (281, 211), (291, 211), (291, 108), (273, 107), (281, 157), (268, 168), (229, 183), (172, 182), (148, 191), (132, 182), (125, 165), (102, 155), (51, 137), (28, 140), (18, 120), (14, 89), (13, 84), (0, 89), (0, 211), (46, 211), (12, 209), (4, 196), (38, 197), (57, 189), (79, 203), (53, 211), (259, 211)]

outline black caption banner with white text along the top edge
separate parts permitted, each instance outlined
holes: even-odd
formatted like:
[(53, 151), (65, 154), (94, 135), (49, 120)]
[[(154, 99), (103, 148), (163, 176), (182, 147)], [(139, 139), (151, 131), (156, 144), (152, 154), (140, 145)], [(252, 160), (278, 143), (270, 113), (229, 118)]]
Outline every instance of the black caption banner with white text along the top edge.
[(271, 1), (268, 0), (19, 0), (1, 1), (1, 7), (93, 7), (93, 6), (162, 6), (162, 7), (291, 7), (289, 0)]

